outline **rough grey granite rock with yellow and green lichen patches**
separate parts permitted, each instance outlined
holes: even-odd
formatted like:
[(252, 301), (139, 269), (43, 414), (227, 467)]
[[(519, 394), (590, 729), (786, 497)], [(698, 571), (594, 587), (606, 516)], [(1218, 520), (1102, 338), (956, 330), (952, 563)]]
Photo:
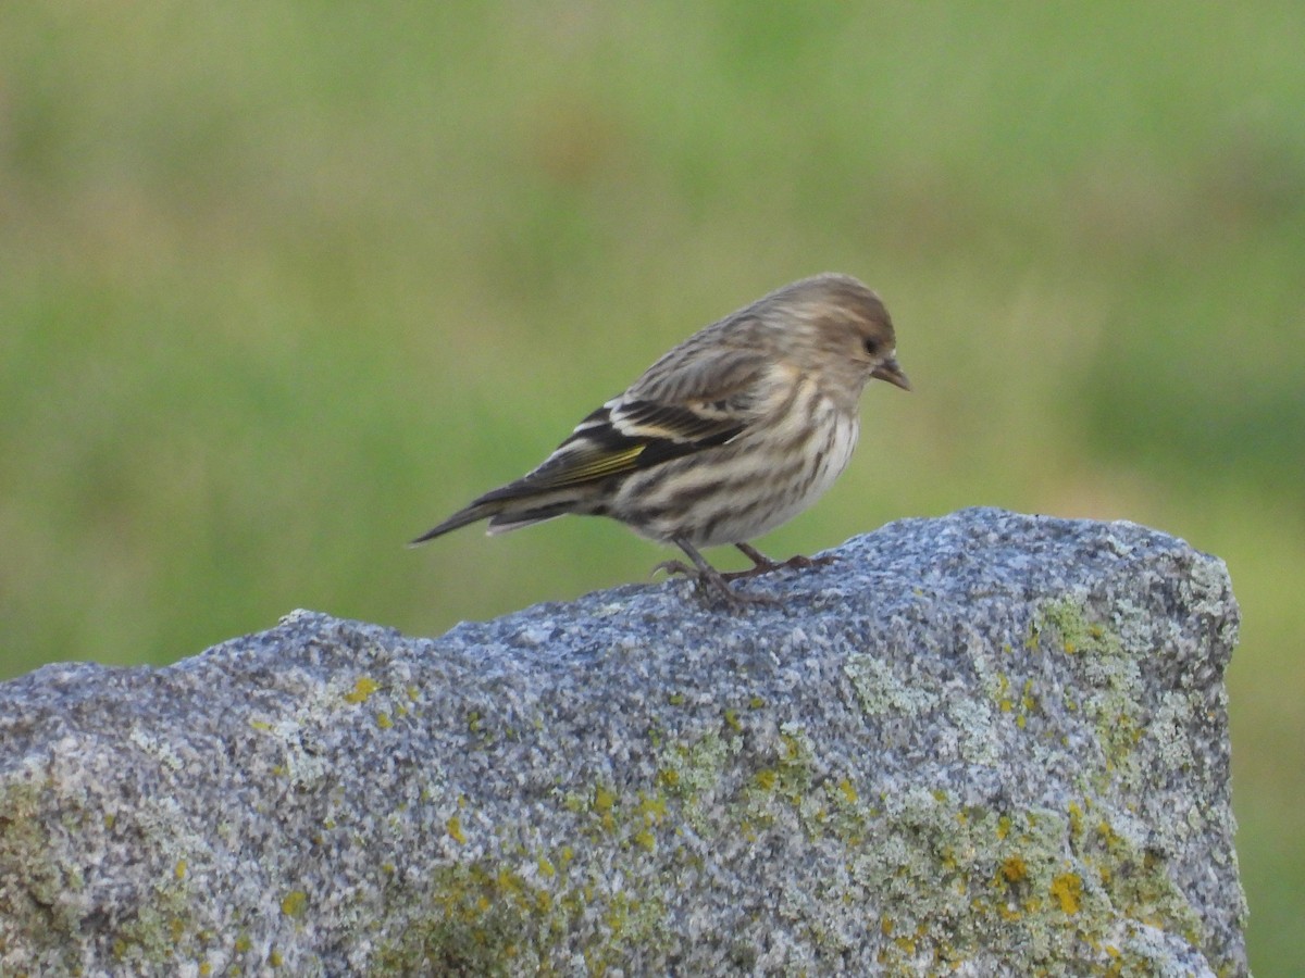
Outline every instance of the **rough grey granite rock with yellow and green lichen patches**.
[(0, 686), (0, 973), (1245, 974), (1224, 565), (967, 510)]

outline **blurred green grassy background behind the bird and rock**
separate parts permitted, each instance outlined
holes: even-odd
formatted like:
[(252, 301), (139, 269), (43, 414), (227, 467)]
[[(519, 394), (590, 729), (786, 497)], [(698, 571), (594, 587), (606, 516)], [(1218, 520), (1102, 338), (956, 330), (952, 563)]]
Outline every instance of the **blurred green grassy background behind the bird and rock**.
[(1224, 557), (1251, 965), (1295, 974), (1302, 51), (1295, 3), (7, 5), (0, 670), (645, 579), (600, 520), (402, 544), (848, 271), (916, 390), (763, 545), (983, 503)]

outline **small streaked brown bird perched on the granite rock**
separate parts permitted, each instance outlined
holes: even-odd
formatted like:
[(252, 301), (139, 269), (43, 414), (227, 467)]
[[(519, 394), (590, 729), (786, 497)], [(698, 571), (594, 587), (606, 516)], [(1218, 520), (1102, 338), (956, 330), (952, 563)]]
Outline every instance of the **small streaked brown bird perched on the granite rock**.
[[(813, 563), (779, 563), (746, 541), (834, 484), (856, 447), (872, 378), (911, 389), (883, 303), (850, 275), (801, 279), (689, 336), (534, 471), (412, 542), (482, 519), (493, 535), (568, 512), (611, 516), (694, 565), (659, 567), (739, 604), (748, 599), (727, 580)], [(722, 544), (746, 554), (752, 570), (722, 574), (698, 552)]]

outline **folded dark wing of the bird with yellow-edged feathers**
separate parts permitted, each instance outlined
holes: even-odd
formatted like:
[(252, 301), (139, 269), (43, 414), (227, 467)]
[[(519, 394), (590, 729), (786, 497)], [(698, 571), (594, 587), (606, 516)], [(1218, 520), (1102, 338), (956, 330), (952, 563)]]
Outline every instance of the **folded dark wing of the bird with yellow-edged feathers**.
[(538, 468), (478, 502), (595, 482), (736, 438), (756, 417), (767, 364), (754, 351), (713, 352), (716, 370), (698, 369), (679, 381), (654, 377), (654, 368), (581, 421)]

